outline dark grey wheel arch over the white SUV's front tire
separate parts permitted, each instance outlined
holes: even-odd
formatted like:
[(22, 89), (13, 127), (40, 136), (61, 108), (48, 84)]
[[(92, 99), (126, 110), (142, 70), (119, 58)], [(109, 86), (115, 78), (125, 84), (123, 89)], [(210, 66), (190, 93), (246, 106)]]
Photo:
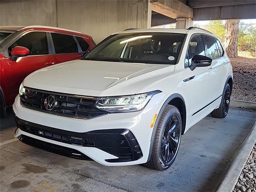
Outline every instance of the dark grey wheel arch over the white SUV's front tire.
[(164, 111), (164, 108), (167, 105), (176, 106), (178, 108), (178, 110), (180, 111), (180, 115), (182, 118), (182, 134), (184, 134), (185, 127), (186, 127), (186, 104), (185, 104), (184, 98), (180, 94), (174, 93), (170, 97), (168, 97), (168, 99), (164, 102), (164, 104), (162, 105), (162, 108), (160, 109), (158, 116), (156, 118), (156, 122), (155, 122), (155, 125), (153, 128), (153, 133), (152, 133), (151, 140), (150, 140), (148, 161), (150, 160), (150, 157), (152, 154), (152, 149), (153, 149), (153, 144), (154, 144), (154, 139), (155, 139), (155, 135), (156, 135), (156, 128), (157, 128), (158, 122), (160, 120), (162, 112)]

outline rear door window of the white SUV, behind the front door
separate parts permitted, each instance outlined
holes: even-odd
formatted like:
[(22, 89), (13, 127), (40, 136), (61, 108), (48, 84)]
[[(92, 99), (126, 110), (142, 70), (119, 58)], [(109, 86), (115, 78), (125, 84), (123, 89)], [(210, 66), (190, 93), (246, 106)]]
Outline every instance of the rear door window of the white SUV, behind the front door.
[(220, 57), (220, 50), (215, 43), (214, 38), (208, 35), (203, 35), (203, 37), (206, 42), (208, 57), (210, 57), (211, 59), (216, 59)]

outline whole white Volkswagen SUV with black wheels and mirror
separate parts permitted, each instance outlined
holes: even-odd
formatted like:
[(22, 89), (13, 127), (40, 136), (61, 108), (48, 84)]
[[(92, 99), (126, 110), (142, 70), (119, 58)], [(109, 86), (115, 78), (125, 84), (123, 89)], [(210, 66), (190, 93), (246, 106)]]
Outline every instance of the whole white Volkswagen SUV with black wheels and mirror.
[(232, 77), (208, 31), (117, 32), (80, 60), (24, 79), (13, 105), (15, 137), (106, 166), (166, 170), (182, 134), (208, 114), (227, 115)]

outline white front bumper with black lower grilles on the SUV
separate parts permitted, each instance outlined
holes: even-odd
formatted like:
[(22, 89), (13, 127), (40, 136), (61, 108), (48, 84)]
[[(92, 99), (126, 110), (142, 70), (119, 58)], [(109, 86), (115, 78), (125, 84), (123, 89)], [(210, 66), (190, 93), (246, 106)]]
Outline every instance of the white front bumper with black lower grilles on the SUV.
[(44, 150), (107, 166), (142, 164), (150, 151), (150, 124), (164, 97), (164, 93), (156, 94), (140, 112), (84, 120), (24, 108), (17, 96), (15, 137)]

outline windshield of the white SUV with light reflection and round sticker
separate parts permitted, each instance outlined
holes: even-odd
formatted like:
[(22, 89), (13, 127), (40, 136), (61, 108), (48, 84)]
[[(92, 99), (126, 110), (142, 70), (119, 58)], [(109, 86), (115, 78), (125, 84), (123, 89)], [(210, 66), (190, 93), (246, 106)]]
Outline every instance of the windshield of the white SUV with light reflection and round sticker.
[(106, 38), (83, 60), (176, 64), (185, 34), (124, 33)]

